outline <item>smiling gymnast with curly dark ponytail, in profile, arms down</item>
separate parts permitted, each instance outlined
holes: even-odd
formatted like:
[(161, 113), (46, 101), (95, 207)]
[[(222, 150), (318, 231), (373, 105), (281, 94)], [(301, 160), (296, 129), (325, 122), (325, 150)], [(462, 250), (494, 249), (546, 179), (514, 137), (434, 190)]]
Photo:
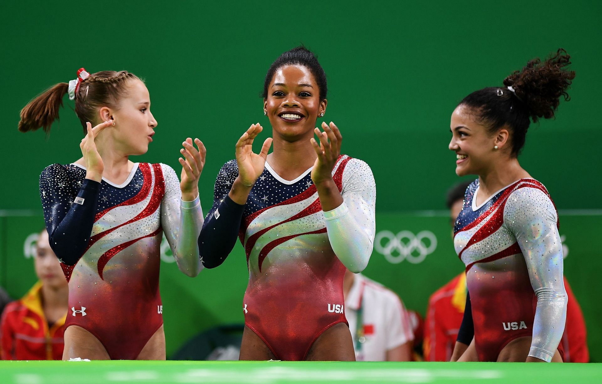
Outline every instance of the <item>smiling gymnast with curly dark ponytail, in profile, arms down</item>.
[(563, 49), (533, 59), (453, 111), (456, 174), (478, 176), (454, 228), (468, 295), (453, 361), (562, 361), (567, 296), (558, 213), (518, 155), (530, 123), (553, 118), (560, 98), (569, 100), (569, 64)]

